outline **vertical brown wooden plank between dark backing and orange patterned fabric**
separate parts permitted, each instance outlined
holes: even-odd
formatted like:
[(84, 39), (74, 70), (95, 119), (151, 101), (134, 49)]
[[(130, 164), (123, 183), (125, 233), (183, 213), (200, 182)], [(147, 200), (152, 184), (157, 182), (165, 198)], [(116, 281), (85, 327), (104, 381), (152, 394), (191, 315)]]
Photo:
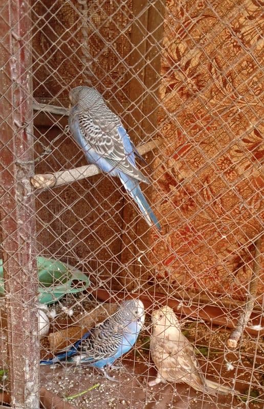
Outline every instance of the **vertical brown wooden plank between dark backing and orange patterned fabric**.
[[(157, 110), (159, 107), (159, 79), (161, 66), (161, 46), (163, 40), (164, 2), (134, 2), (134, 25), (131, 35), (134, 49), (131, 53), (130, 101), (137, 108), (130, 111), (128, 117), (129, 135), (133, 141), (149, 142), (157, 135)], [(137, 18), (139, 16), (139, 18)], [(132, 128), (132, 129), (131, 129)], [(152, 153), (148, 153), (147, 162), (151, 164)], [(151, 168), (146, 168), (151, 173)], [(144, 195), (151, 203), (151, 188), (141, 184)], [(133, 220), (137, 218), (137, 223)], [(147, 252), (149, 244), (149, 227), (138, 211), (130, 204), (124, 207), (124, 233), (122, 236), (121, 261), (127, 265), (129, 274), (122, 277), (122, 285), (128, 290), (135, 288), (137, 283), (133, 277), (138, 277), (139, 269), (135, 270), (135, 255)], [(134, 224), (134, 225), (133, 225)], [(143, 253), (142, 253), (143, 252)], [(130, 262), (129, 262), (130, 261)], [(142, 259), (143, 261), (143, 259)], [(146, 260), (147, 262), (147, 260)], [(143, 262), (144, 264), (144, 262)], [(140, 270), (142, 273), (142, 269)], [(127, 271), (128, 273), (128, 271)]]

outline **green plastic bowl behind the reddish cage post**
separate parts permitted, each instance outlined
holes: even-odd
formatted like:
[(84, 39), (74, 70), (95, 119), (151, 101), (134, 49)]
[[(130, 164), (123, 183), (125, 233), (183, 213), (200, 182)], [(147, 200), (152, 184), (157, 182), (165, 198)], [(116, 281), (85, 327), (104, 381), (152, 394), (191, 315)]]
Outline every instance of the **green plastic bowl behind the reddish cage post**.
[[(53, 304), (65, 294), (76, 294), (90, 286), (89, 278), (80, 270), (64, 263), (37, 258), (38, 301), (41, 304)], [(0, 294), (5, 293), (3, 260), (0, 259)]]

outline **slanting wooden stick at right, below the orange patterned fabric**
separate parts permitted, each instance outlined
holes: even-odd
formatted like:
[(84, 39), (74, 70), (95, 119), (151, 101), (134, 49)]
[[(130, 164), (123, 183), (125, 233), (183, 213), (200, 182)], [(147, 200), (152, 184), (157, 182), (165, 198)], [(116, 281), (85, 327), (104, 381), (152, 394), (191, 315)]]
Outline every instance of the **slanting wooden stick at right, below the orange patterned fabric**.
[(227, 347), (229, 349), (235, 349), (240, 339), (241, 335), (243, 334), (244, 329), (246, 328), (250, 316), (254, 307), (256, 294), (257, 294), (257, 285), (258, 285), (258, 278), (259, 278), (259, 271), (260, 271), (260, 247), (261, 247), (261, 238), (260, 236), (255, 241), (255, 258), (253, 262), (252, 268), (252, 275), (249, 283), (249, 295), (247, 298), (247, 302), (245, 305), (245, 310), (240, 314), (235, 329), (231, 332), (228, 340), (227, 340)]

